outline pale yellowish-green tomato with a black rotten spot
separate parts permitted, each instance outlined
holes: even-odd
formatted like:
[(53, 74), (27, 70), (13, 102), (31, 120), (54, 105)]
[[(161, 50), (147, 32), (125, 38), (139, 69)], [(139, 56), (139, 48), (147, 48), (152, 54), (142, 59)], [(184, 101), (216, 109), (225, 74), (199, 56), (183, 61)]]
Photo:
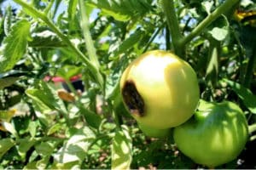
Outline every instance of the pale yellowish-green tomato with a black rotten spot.
[(199, 101), (195, 71), (166, 51), (142, 54), (120, 80), (125, 107), (138, 123), (165, 129), (189, 120)]

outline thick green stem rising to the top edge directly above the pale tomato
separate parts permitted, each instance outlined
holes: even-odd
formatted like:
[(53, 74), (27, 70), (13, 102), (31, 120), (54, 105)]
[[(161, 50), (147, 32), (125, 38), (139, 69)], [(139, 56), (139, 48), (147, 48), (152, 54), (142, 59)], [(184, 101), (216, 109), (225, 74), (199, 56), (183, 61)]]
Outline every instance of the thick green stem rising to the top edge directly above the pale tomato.
[(183, 44), (180, 41), (183, 36), (178, 25), (174, 2), (173, 0), (162, 0), (161, 3), (164, 13), (166, 14), (167, 25), (171, 31), (174, 52), (178, 56), (182, 57), (184, 54), (184, 48), (182, 48), (181, 45)]

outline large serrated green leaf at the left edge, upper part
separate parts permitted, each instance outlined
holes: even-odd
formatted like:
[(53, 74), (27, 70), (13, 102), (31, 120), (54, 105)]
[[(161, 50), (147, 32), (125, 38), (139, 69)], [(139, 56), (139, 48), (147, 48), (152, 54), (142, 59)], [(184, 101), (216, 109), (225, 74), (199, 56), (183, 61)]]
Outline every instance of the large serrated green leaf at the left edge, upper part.
[(4, 40), (3, 55), (0, 56), (0, 72), (11, 70), (26, 53), (30, 26), (27, 20), (20, 20), (12, 27)]

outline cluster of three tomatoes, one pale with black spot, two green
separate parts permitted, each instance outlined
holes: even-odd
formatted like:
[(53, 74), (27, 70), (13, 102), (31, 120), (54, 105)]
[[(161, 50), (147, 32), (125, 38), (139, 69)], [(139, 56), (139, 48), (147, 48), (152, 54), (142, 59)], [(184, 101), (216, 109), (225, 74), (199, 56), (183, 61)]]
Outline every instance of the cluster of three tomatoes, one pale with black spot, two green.
[(230, 101), (200, 100), (195, 71), (175, 54), (142, 54), (123, 72), (120, 91), (143, 133), (165, 138), (174, 127), (178, 149), (196, 163), (214, 167), (232, 161), (247, 142), (241, 109)]

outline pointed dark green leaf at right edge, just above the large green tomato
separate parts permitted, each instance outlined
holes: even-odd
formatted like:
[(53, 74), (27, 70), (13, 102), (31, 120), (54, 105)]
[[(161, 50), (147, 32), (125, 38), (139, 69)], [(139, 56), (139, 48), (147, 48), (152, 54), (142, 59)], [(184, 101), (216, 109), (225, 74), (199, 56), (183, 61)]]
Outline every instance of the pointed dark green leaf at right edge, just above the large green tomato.
[(246, 105), (247, 109), (253, 114), (256, 114), (256, 96), (253, 95), (252, 91), (248, 88), (244, 88), (241, 84), (224, 79), (224, 82), (236, 92), (243, 104)]

